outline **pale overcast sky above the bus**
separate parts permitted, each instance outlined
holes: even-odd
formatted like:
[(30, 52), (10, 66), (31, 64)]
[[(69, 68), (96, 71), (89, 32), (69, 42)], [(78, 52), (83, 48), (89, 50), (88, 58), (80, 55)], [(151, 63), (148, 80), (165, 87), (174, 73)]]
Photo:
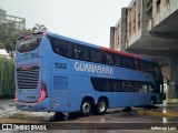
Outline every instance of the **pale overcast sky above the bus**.
[(26, 28), (44, 24), (51, 32), (109, 47), (110, 27), (131, 0), (0, 0), (8, 14), (26, 18)]

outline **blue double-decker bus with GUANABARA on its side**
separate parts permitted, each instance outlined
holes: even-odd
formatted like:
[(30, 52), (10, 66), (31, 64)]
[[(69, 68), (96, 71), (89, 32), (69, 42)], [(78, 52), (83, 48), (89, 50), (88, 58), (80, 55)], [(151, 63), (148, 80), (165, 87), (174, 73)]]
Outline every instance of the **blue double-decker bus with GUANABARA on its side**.
[(92, 112), (162, 103), (155, 61), (51, 32), (18, 40), (16, 105), (41, 112)]

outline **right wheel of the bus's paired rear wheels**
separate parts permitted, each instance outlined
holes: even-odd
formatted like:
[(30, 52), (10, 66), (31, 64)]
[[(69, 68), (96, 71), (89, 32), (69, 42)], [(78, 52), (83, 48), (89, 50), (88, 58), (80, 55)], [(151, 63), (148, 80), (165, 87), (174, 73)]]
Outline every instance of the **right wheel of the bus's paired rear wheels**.
[(97, 114), (102, 115), (107, 111), (107, 102), (105, 99), (100, 99), (97, 104)]

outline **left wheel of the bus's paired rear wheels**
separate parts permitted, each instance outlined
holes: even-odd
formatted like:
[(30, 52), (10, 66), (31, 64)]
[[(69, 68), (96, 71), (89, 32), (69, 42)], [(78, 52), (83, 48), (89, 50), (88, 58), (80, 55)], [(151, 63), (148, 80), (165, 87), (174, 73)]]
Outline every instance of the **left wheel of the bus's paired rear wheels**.
[(83, 100), (80, 109), (82, 116), (88, 116), (91, 114), (91, 102), (90, 100)]

